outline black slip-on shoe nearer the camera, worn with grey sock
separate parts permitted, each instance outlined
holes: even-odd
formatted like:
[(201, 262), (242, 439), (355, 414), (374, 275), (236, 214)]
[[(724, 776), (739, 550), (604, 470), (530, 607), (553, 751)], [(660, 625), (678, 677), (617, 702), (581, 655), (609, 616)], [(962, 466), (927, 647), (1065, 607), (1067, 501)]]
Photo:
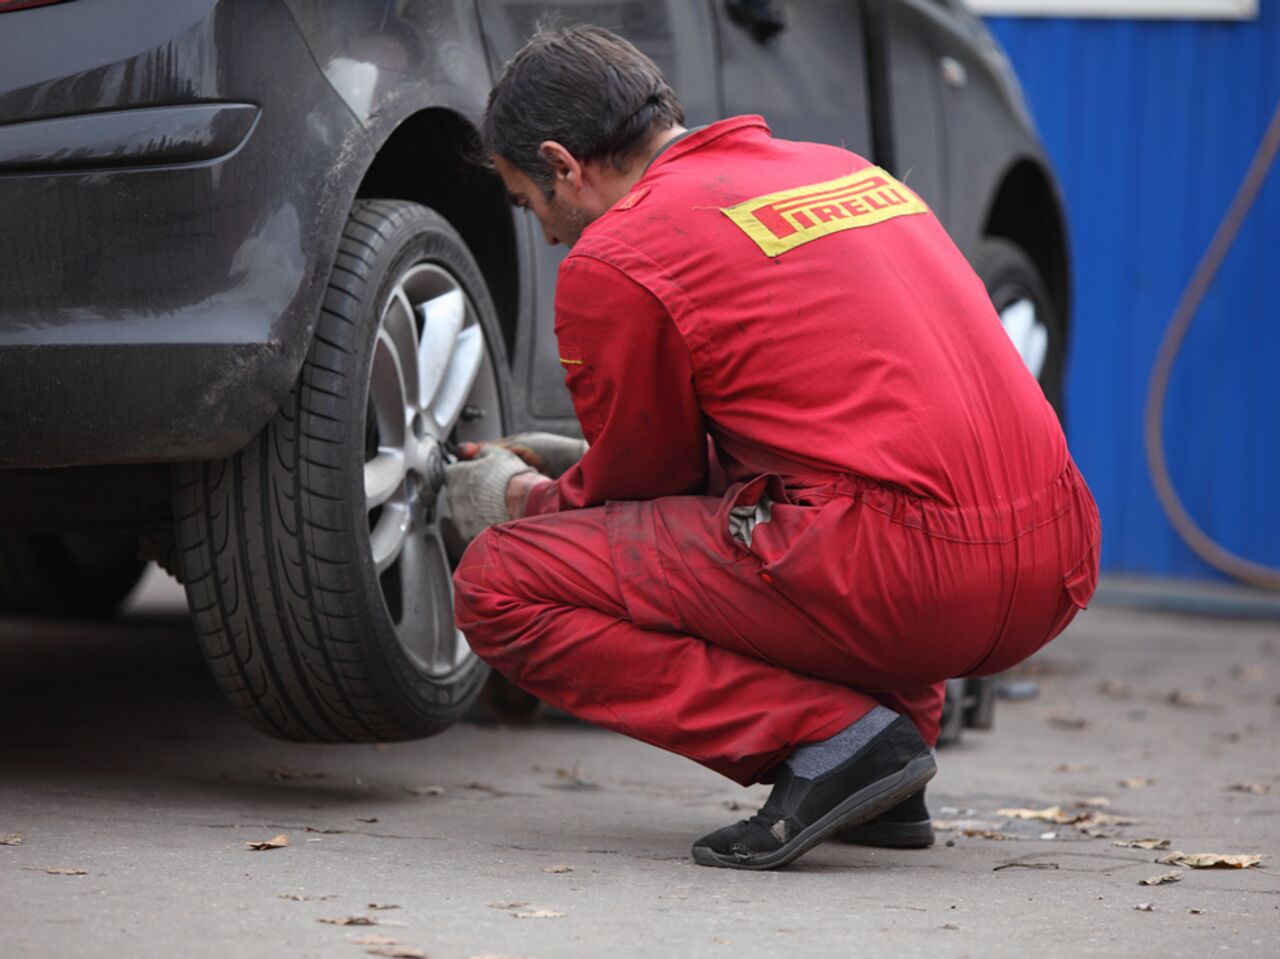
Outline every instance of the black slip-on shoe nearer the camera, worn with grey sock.
[(937, 768), (915, 726), (900, 716), (817, 778), (800, 778), (782, 763), (760, 812), (694, 842), (694, 862), (730, 869), (786, 866), (837, 830), (867, 822), (918, 793)]

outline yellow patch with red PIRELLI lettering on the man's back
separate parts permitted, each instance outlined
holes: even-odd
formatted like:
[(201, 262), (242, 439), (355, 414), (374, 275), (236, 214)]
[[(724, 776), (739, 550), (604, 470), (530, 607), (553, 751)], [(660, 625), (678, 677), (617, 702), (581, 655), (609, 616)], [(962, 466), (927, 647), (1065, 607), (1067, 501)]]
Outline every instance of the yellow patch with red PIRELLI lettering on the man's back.
[(929, 207), (879, 166), (847, 177), (758, 196), (722, 207), (765, 256), (846, 229), (872, 227), (895, 216), (928, 213)]

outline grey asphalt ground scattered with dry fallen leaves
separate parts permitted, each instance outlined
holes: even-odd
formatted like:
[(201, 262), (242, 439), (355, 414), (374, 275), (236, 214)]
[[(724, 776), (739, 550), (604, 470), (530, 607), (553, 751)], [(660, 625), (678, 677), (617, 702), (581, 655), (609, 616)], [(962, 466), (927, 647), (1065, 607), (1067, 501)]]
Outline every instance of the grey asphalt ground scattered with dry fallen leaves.
[(276, 743), (172, 585), (110, 625), (0, 620), (0, 956), (1276, 955), (1280, 620), (1096, 604), (1011, 680), (1036, 697), (940, 753), (933, 849), (745, 873), (689, 845), (767, 787), (621, 736)]

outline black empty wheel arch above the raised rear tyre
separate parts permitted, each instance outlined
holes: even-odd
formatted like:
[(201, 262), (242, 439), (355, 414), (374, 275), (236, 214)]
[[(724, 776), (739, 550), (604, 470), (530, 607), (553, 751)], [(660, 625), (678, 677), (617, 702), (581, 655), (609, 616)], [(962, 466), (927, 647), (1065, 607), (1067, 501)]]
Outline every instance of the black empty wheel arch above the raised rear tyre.
[(502, 182), (480, 161), (475, 127), (440, 106), (404, 118), (374, 155), (356, 198), (422, 204), (458, 230), (489, 287), (512, 356), (520, 311), (516, 228)]

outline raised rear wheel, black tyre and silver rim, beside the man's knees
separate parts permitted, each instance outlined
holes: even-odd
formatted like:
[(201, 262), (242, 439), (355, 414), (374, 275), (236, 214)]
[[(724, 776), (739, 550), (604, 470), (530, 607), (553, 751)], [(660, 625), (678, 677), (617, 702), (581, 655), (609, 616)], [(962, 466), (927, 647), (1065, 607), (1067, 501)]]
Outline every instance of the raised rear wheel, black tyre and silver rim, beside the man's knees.
[(302, 373), (228, 460), (175, 475), (179, 565), (223, 693), (296, 741), (440, 732), (488, 667), (453, 625), (462, 551), (442, 515), (447, 442), (502, 435), (507, 364), (458, 233), (361, 200)]

